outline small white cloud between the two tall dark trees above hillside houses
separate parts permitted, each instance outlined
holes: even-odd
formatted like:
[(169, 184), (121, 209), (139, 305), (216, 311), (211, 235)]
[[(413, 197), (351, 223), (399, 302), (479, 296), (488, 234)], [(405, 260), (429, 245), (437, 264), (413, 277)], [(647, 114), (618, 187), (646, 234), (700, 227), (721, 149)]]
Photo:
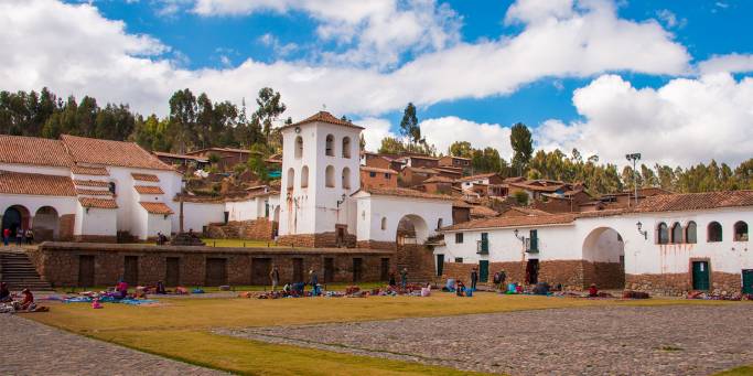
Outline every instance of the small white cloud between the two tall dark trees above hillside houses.
[(427, 119), (419, 123), (421, 136), (437, 147), (437, 151), (448, 153), (455, 141), (469, 141), (476, 149), (494, 148), (499, 155), (509, 159), (513, 149), (509, 144), (510, 130), (498, 123), (478, 123), (454, 116)]

